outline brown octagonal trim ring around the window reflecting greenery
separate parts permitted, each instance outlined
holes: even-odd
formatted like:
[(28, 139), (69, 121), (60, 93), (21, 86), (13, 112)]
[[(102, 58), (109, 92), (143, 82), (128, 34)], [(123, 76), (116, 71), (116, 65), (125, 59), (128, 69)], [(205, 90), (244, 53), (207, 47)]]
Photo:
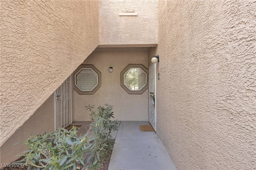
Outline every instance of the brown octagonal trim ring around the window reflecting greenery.
[[(140, 90), (130, 90), (130, 88), (124, 84), (124, 74), (126, 74), (130, 68), (140, 68), (146, 74), (146, 84)], [(148, 68), (143, 64), (128, 64), (124, 70), (120, 72), (120, 85), (128, 94), (143, 94), (146, 89), (148, 89)]]

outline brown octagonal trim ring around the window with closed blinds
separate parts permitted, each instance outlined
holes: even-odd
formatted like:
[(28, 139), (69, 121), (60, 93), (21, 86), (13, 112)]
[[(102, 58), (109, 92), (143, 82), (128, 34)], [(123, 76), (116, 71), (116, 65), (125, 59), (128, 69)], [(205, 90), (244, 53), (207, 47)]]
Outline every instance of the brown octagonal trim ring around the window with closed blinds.
[[(82, 91), (80, 88), (78, 88), (78, 85), (76, 84), (76, 75), (82, 69), (92, 69), (98, 75), (97, 76), (98, 77), (98, 84), (91, 91)], [(76, 70), (74, 71), (74, 76), (73, 77), (74, 77), (73, 78), (73, 80), (74, 80), (74, 90), (76, 90), (76, 92), (78, 92), (78, 94), (80, 94), (80, 95), (94, 94), (101, 87), (101, 72), (92, 64), (81, 64), (80, 66), (78, 66), (78, 68), (76, 68)]]

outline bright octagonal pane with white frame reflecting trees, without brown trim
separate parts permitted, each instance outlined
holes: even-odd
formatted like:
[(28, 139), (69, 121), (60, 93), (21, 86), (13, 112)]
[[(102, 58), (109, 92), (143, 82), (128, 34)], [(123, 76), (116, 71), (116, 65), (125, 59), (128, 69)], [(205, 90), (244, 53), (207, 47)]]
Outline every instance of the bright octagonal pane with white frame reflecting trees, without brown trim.
[(129, 68), (124, 74), (124, 85), (130, 90), (141, 90), (146, 85), (147, 75), (141, 68)]

